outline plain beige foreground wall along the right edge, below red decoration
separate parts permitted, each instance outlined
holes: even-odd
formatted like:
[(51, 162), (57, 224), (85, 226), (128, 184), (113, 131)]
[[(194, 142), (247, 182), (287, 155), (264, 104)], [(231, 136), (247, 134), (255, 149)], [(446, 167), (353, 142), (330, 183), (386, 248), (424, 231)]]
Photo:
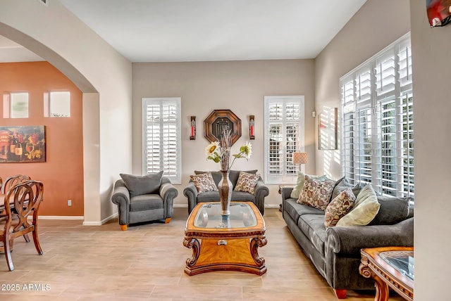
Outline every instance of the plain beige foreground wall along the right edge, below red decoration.
[(415, 300), (450, 300), (451, 25), (410, 1), (415, 123)]

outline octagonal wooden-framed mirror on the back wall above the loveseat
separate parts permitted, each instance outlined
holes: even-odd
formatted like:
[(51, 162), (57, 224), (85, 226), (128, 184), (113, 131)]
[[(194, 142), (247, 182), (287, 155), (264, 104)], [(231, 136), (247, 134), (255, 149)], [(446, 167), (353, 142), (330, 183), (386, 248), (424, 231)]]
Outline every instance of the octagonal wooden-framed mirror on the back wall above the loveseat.
[(231, 110), (213, 110), (204, 120), (204, 137), (209, 142), (221, 139), (223, 130), (230, 129), (232, 145), (241, 137), (241, 120)]

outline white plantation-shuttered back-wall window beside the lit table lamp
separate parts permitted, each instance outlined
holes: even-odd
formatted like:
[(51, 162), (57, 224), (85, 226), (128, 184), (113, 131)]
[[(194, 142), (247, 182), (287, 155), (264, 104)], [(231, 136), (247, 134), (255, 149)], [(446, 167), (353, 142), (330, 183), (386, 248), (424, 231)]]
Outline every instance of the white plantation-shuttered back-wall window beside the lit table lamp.
[(304, 151), (304, 96), (265, 96), (264, 151), (267, 184), (296, 181), (292, 153)]

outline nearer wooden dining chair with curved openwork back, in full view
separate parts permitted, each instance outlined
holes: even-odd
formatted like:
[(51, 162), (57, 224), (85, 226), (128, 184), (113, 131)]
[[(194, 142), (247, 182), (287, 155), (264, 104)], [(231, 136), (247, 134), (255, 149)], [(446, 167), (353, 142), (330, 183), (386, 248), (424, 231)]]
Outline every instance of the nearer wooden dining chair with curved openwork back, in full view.
[[(42, 255), (37, 236), (37, 214), (43, 195), (44, 184), (32, 180), (19, 183), (6, 192), (6, 219), (0, 221), (0, 241), (3, 243), (3, 246), (0, 246), (0, 252), (4, 252), (10, 271), (14, 269), (11, 250), (15, 238), (31, 232), (37, 253)], [(31, 215), (33, 218), (30, 222), (28, 217)]]

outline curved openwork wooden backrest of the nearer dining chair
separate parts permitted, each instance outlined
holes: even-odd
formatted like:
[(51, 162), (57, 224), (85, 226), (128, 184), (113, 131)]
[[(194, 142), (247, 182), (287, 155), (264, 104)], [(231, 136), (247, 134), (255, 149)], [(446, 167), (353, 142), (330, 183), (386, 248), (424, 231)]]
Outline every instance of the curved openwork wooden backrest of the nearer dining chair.
[[(30, 228), (30, 226), (35, 225), (37, 219), (37, 211), (39, 209), (39, 204), (42, 202), (44, 196), (44, 184), (40, 181), (24, 181), (22, 183), (13, 186), (8, 191), (6, 191), (5, 196), (5, 211), (7, 219), (5, 225), (5, 231), (11, 231), (9, 227), (11, 226), (12, 217), (18, 218), (18, 223), (14, 223), (14, 232), (23, 231), (23, 229)], [(11, 210), (11, 205), (14, 207), (14, 211)], [(32, 225), (28, 222), (27, 218), (33, 214)], [(18, 233), (19, 236), (23, 235)]]

